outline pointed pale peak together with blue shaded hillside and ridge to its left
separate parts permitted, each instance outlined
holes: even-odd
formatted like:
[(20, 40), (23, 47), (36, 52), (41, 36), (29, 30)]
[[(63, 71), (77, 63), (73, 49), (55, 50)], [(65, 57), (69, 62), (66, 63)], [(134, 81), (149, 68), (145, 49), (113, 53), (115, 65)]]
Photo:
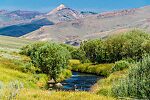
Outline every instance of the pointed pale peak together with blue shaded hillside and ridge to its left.
[(0, 35), (19, 37), (42, 26), (81, 19), (84, 16), (61, 4), (48, 13), (34, 11), (0, 11)]

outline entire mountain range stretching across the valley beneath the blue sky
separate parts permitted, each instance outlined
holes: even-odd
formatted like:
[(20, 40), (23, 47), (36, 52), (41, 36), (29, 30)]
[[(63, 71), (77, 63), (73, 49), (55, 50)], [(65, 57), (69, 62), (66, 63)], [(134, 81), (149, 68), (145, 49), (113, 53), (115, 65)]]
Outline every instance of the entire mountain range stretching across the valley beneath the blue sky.
[[(17, 21), (13, 21), (11, 15)], [(19, 16), (19, 17), (18, 17)], [(21, 20), (18, 20), (21, 19)], [(0, 11), (0, 21), (12, 24), (0, 28), (0, 35), (22, 36), (31, 40), (79, 43), (91, 38), (105, 38), (115, 32), (140, 28), (150, 31), (150, 6), (104, 13), (79, 12), (61, 4), (48, 13)], [(16, 24), (17, 23), (17, 24)]]

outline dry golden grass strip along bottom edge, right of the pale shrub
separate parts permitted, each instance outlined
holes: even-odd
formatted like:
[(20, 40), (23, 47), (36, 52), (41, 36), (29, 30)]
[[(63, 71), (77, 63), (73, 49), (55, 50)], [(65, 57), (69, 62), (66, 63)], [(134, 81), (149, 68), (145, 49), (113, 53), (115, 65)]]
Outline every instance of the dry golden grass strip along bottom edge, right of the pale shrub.
[(55, 92), (23, 89), (17, 100), (115, 100), (111, 97), (99, 96), (88, 92)]

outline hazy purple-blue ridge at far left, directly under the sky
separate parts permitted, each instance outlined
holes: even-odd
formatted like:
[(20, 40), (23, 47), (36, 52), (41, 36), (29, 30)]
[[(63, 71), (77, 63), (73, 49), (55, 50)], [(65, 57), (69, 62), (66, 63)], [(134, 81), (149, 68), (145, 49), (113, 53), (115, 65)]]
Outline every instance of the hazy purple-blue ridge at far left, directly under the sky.
[(10, 25), (29, 22), (36, 16), (43, 15), (43, 13), (37, 11), (7, 11), (0, 10), (0, 27), (6, 27)]

